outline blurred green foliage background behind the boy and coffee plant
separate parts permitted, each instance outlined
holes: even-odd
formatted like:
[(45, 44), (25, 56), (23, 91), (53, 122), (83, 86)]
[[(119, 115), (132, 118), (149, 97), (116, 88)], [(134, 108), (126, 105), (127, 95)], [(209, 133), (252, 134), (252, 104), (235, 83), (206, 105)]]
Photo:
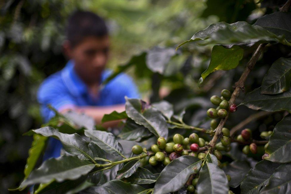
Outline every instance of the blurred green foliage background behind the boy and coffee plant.
[[(176, 47), (212, 23), (247, 21), (253, 24), (261, 15), (278, 10), (280, 2), (0, 0), (0, 193), (8, 193), (7, 188), (17, 185), (24, 177), (23, 169), (32, 138), (21, 134), (38, 128), (42, 123), (36, 92), (44, 78), (61, 70), (66, 64), (66, 58), (62, 55), (62, 42), (66, 19), (72, 11), (90, 10), (106, 19), (112, 38), (108, 67), (114, 68), (126, 63), (132, 55), (156, 45)], [(163, 79), (161, 84), (170, 87), (172, 91), (182, 91), (178, 95), (172, 92), (166, 98), (170, 102), (177, 102), (175, 110), (184, 106), (195, 107), (197, 104), (203, 106), (205, 100), (197, 97), (209, 96), (207, 92), (214, 84), (206, 83), (208, 88), (198, 90), (195, 83), (208, 66), (211, 47), (201, 48), (188, 44), (184, 49), (187, 55), (179, 70), (180, 74), (168, 76), (169, 79)], [(278, 57), (289, 53), (284, 46), (268, 52)], [(260, 63), (272, 64), (273, 61), (266, 59)], [(233, 78), (242, 71), (245, 61), (241, 63), (241, 68), (229, 71), (227, 76), (223, 73), (213, 74), (214, 78), (229, 80), (228, 85), (220, 85), (221, 82), (216, 80), (215, 84), (219, 87), (213, 90), (214, 93), (222, 87), (231, 88)], [(267, 67), (260, 67), (260, 64), (256, 68), (248, 84), (260, 84), (267, 71)], [(153, 77), (138, 77), (132, 69), (127, 73), (135, 78), (143, 97), (148, 97)], [(203, 109), (207, 106), (206, 103)], [(190, 111), (189, 124), (197, 125), (202, 113), (204, 117), (205, 110)]]

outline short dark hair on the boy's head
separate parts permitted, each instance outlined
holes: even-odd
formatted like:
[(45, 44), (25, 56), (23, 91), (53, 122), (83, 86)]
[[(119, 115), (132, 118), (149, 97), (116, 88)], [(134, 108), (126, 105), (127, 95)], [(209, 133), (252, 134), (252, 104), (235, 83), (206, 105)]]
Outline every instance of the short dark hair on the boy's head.
[(89, 11), (75, 11), (68, 19), (66, 37), (71, 46), (80, 43), (88, 36), (103, 37), (108, 35), (105, 21)]

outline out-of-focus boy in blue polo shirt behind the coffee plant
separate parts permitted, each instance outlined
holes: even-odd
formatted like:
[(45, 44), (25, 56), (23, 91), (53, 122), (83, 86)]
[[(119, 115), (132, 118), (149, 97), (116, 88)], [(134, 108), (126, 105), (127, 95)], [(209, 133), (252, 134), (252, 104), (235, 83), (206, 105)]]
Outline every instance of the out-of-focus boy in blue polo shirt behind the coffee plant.
[[(100, 89), (100, 84), (110, 74), (105, 70), (109, 37), (103, 19), (91, 12), (76, 11), (68, 20), (66, 38), (63, 46), (69, 62), (45, 79), (38, 91), (41, 114), (46, 122), (54, 116), (48, 104), (60, 113), (74, 110), (100, 123), (104, 114), (125, 110), (124, 96), (139, 97), (137, 87), (125, 74)], [(44, 160), (60, 156), (61, 148), (60, 141), (50, 138)]]

